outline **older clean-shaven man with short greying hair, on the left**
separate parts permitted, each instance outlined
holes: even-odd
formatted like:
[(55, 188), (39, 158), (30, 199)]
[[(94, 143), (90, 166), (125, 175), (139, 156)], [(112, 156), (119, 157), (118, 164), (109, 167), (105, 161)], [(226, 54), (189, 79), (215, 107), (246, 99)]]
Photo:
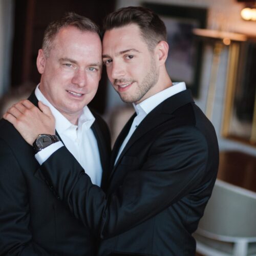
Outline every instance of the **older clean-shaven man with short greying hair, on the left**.
[[(101, 76), (101, 40), (88, 18), (68, 13), (46, 29), (38, 51), (39, 85), (30, 104), (48, 105), (56, 120), (36, 142), (36, 159), (51, 142), (62, 142), (87, 169), (93, 184), (104, 186), (110, 157), (108, 127), (87, 104)], [(39, 100), (39, 103), (38, 103)], [(34, 105), (33, 105), (34, 106)], [(28, 125), (36, 123), (35, 119)], [(56, 129), (56, 132), (55, 132)], [(49, 134), (56, 136), (51, 136)], [(61, 140), (62, 142), (58, 141)], [(61, 203), (54, 188), (38, 176), (33, 148), (12, 124), (0, 121), (0, 254), (94, 255), (96, 238)], [(50, 187), (50, 189), (49, 189)]]

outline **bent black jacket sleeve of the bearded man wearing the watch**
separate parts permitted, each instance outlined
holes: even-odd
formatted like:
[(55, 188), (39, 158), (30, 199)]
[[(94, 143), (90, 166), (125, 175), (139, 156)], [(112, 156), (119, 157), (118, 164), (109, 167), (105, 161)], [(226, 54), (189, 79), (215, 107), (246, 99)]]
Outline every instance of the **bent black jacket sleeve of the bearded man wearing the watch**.
[(129, 230), (187, 195), (200, 183), (207, 156), (206, 140), (196, 128), (163, 133), (151, 144), (143, 164), (127, 172), (110, 195), (91, 183), (65, 147), (42, 169), (76, 218), (104, 239)]

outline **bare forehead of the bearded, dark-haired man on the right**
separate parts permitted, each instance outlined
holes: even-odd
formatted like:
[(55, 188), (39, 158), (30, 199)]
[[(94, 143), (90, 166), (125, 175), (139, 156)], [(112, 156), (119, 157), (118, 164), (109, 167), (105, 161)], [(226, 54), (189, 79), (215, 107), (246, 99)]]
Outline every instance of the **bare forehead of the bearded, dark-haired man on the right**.
[(103, 37), (103, 54), (110, 51), (123, 51), (125, 49), (147, 50), (145, 40), (141, 35), (140, 28), (136, 24), (114, 28), (105, 32)]

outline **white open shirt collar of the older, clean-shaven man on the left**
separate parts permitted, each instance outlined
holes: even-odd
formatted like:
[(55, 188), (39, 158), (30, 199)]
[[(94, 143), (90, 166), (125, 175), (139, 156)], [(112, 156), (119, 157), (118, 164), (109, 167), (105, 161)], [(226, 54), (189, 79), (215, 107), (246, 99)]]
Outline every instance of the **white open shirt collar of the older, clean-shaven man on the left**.
[(35, 96), (45, 105), (49, 106), (54, 118), (55, 118), (55, 127), (59, 134), (70, 129), (70, 127), (85, 127), (87, 130), (90, 129), (92, 124), (95, 121), (95, 117), (92, 112), (89, 110), (88, 106), (84, 106), (81, 116), (78, 118), (78, 125), (71, 123), (65, 116), (63, 116), (41, 93), (39, 90), (39, 84), (35, 89)]

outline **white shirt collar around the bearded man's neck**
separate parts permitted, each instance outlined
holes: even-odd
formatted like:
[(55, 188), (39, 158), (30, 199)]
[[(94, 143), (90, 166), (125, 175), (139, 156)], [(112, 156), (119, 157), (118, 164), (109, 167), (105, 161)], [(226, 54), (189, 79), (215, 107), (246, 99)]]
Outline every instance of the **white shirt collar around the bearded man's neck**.
[(144, 115), (147, 115), (153, 109), (155, 109), (156, 106), (158, 106), (160, 103), (162, 103), (165, 99), (167, 99), (170, 96), (173, 96), (177, 93), (180, 93), (184, 90), (186, 90), (185, 82), (174, 82), (172, 86), (143, 100), (139, 104), (136, 105), (133, 103), (134, 109), (135, 109), (137, 115), (142, 114), (142, 113)]

